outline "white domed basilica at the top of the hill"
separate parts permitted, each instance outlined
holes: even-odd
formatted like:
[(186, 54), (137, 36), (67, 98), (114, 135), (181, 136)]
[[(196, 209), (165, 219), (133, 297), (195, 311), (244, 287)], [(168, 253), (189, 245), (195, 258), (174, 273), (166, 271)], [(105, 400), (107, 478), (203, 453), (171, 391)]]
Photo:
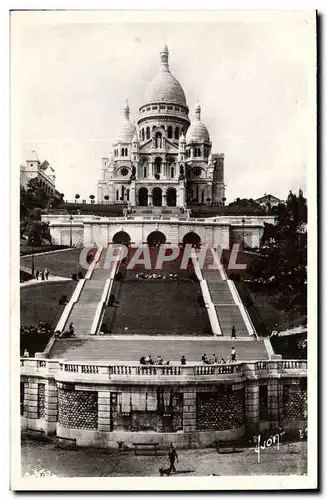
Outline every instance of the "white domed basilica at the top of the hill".
[(224, 154), (212, 154), (197, 103), (190, 122), (180, 83), (171, 74), (168, 48), (149, 84), (135, 125), (126, 102), (113, 153), (102, 158), (99, 203), (177, 206), (225, 200)]

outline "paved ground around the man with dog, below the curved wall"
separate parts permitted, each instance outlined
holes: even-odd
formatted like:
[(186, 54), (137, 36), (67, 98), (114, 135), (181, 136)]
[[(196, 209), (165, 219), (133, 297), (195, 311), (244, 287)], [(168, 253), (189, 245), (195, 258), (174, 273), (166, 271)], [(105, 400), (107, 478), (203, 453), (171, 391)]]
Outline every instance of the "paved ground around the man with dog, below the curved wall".
[[(159, 476), (166, 453), (134, 456), (133, 451), (69, 450), (53, 443), (23, 440), (22, 475), (45, 471), (57, 477)], [(306, 442), (262, 450), (259, 464), (253, 448), (240, 448), (235, 453), (217, 453), (213, 448), (178, 450), (178, 456), (178, 476), (303, 475), (307, 467)]]

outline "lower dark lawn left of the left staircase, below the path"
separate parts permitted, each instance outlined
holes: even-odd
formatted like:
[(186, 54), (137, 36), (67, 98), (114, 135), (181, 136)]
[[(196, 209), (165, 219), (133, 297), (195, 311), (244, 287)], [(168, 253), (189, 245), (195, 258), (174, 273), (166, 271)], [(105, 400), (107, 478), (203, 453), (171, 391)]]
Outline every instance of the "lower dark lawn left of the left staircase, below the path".
[(76, 281), (44, 282), (21, 288), (21, 325), (37, 325), (38, 321), (47, 321), (55, 327), (65, 307), (58, 304), (59, 299), (67, 295), (69, 300), (76, 284)]

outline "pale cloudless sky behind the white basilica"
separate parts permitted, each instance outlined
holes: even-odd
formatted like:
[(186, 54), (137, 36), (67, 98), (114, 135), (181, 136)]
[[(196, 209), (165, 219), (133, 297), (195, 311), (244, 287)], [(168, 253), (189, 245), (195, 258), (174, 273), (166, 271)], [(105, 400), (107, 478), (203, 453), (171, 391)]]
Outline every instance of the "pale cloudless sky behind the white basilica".
[(66, 199), (96, 195), (125, 100), (137, 121), (165, 43), (190, 117), (199, 99), (212, 152), (225, 154), (227, 201), (306, 191), (315, 168), (308, 12), (51, 14), (12, 16), (13, 144), (19, 164), (33, 150), (49, 161)]

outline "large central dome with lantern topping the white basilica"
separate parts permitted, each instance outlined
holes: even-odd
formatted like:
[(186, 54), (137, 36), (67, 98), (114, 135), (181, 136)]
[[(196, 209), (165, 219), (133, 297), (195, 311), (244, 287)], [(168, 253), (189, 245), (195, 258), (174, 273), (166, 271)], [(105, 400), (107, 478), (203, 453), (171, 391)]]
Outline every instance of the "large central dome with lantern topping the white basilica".
[(168, 54), (168, 48), (165, 45), (162, 52), (160, 52), (160, 70), (145, 93), (146, 102), (166, 101), (187, 106), (184, 90), (169, 70)]

